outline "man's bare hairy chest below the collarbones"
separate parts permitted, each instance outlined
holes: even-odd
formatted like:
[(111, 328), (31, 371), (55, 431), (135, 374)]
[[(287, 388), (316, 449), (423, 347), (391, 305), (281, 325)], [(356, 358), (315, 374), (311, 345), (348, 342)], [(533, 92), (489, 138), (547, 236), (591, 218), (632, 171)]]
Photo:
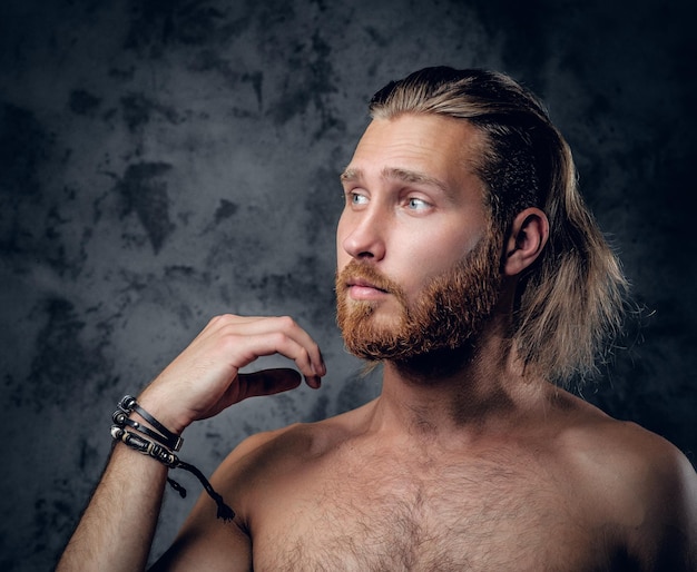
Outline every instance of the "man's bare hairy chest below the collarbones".
[(601, 531), (538, 467), (344, 463), (274, 495), (255, 570), (602, 570)]

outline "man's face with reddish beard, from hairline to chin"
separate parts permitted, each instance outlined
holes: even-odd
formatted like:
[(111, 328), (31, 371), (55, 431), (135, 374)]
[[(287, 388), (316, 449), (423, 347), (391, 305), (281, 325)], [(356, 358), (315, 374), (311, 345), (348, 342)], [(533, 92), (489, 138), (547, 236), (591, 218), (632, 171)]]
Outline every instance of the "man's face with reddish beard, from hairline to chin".
[(464, 121), (374, 120), (342, 176), (337, 319), (354, 354), (405, 359), (462, 347), (498, 299), (500, 246), (489, 231)]

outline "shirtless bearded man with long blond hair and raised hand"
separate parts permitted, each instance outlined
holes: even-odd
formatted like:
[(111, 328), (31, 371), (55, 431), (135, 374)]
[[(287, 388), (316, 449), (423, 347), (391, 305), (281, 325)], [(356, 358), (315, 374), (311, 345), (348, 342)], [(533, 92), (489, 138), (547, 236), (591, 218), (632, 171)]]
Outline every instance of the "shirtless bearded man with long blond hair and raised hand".
[[(234, 521), (203, 495), (155, 570), (696, 570), (688, 461), (559, 387), (592, 369), (625, 282), (540, 103), (502, 75), (433, 68), (371, 112), (341, 177), (336, 294), (382, 394), (242, 443), (212, 479)], [(138, 403), (180, 434), (297, 386), (238, 374), (274, 353), (320, 386), (292, 319), (220, 316)], [(59, 570), (143, 569), (166, 473), (118, 443)]]

